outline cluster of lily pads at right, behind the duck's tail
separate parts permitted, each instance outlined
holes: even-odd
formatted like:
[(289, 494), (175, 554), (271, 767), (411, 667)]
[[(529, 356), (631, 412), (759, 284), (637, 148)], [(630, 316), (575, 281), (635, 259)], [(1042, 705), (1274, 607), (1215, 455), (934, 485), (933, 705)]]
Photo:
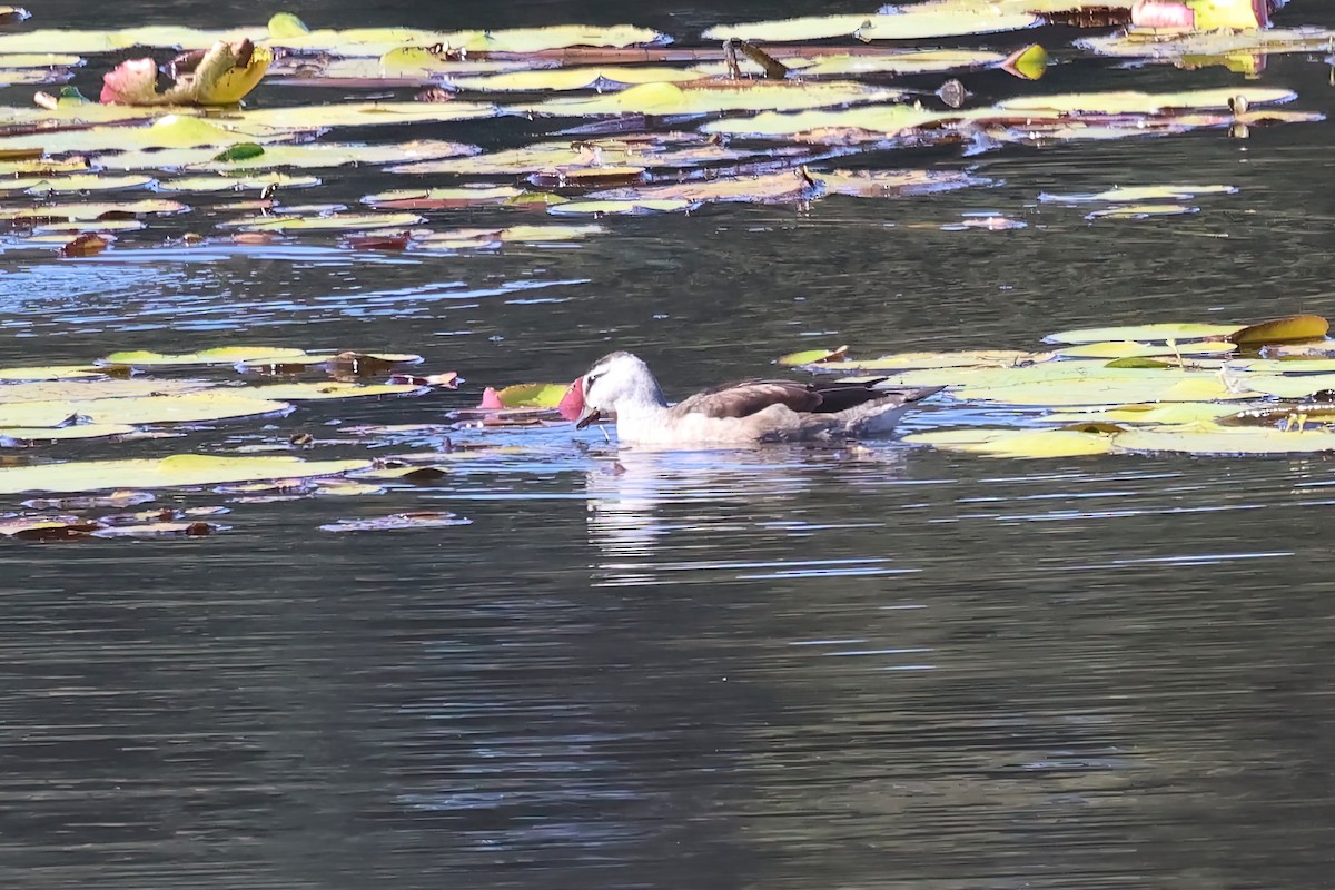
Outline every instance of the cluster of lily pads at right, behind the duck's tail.
[[(1049, 348), (848, 350), (781, 359), (885, 386), (944, 386), (945, 428), (906, 442), (1001, 458), (1335, 451), (1335, 340), (1296, 315), (1258, 324), (1143, 324), (1049, 334)], [(964, 408), (963, 411), (960, 408)], [(1004, 418), (1004, 424), (997, 419)], [(952, 423), (953, 422), (953, 423)], [(960, 422), (965, 422), (960, 426)]]

